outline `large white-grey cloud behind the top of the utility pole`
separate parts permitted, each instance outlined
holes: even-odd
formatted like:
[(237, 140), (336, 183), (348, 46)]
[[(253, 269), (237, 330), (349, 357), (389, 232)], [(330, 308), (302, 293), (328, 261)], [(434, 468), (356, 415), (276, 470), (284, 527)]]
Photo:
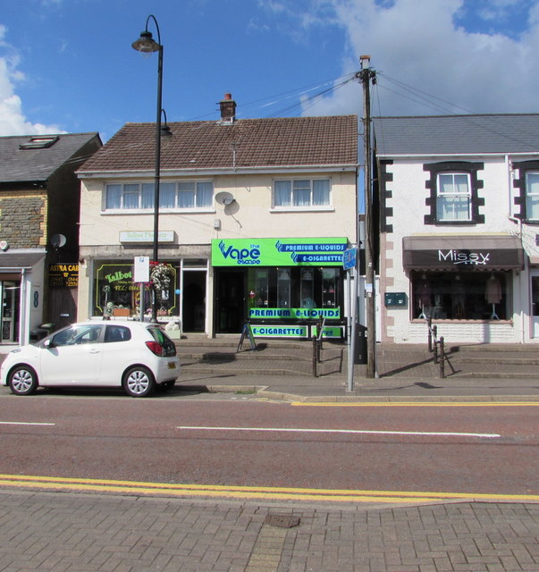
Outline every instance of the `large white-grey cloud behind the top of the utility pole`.
[[(497, 0), (493, 10), (513, 2)], [(314, 12), (297, 16), (319, 27), (322, 19), (316, 17), (332, 11), (332, 24), (339, 22), (348, 38), (341, 73), (358, 71), (360, 55), (372, 56), (378, 72), (374, 114), (536, 113), (539, 2), (532, 4), (517, 39), (488, 32), (493, 13), (476, 14), (484, 18), (481, 33), (456, 25), (464, 0), (317, 0)], [(360, 100), (352, 82), (305, 114), (360, 113)]]

